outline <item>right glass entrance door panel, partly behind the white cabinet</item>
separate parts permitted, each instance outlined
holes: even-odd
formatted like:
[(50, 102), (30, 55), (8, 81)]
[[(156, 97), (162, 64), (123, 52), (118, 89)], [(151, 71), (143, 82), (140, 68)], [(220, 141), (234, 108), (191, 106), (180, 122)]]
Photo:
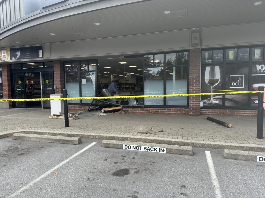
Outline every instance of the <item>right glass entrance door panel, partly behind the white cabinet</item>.
[[(50, 98), (51, 94), (54, 94), (54, 81), (53, 81), (53, 72), (41, 72), (41, 90), (42, 98)], [(50, 109), (50, 101), (42, 101), (43, 109)]]

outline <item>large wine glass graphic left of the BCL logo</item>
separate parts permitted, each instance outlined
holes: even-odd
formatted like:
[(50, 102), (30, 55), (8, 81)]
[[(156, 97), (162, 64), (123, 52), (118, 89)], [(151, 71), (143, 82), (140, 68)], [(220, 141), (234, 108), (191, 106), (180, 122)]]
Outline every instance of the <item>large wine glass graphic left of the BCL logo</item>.
[(218, 103), (219, 101), (216, 101), (213, 99), (213, 88), (215, 85), (217, 85), (220, 82), (221, 73), (219, 66), (208, 66), (205, 70), (205, 82), (211, 86), (211, 99), (206, 100), (206, 103)]

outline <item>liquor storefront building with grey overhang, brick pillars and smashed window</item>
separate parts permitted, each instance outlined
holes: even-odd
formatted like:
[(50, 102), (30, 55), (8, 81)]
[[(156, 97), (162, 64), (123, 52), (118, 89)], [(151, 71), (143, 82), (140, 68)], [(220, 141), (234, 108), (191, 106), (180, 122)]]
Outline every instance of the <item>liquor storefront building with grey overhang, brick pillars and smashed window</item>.
[[(264, 3), (239, 6), (257, 11), (251, 18), (235, 17), (239, 11), (234, 11), (217, 22), (223, 13), (216, 12), (210, 0), (196, 5), (173, 0), (39, 2), (39, 7), (29, 9), (30, 0), (0, 1), (6, 10), (0, 16), (0, 98), (49, 98), (64, 88), (69, 97), (101, 96), (114, 80), (119, 81), (117, 95), (122, 96), (254, 91), (265, 82), (265, 22), (257, 20)], [(230, 3), (231, 8), (227, 2), (212, 6), (229, 11), (236, 7)], [(212, 14), (208, 25), (195, 7)], [(100, 17), (105, 15), (112, 19)], [(87, 28), (78, 21), (87, 23)], [(117, 31), (120, 24), (125, 28)], [(91, 100), (68, 102), (70, 110), (87, 110)], [(257, 115), (253, 93), (128, 98), (128, 103), (141, 107), (122, 111)], [(5, 102), (0, 107), (47, 109), (50, 102)]]

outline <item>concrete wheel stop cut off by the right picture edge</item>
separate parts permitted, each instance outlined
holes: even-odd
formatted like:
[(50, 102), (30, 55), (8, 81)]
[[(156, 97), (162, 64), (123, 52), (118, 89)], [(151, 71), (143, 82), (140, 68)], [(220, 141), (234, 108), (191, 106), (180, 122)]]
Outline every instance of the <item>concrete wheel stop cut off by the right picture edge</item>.
[(243, 150), (228, 150), (224, 149), (224, 158), (238, 159), (246, 161), (257, 161), (257, 156), (265, 156), (263, 152), (243, 151)]

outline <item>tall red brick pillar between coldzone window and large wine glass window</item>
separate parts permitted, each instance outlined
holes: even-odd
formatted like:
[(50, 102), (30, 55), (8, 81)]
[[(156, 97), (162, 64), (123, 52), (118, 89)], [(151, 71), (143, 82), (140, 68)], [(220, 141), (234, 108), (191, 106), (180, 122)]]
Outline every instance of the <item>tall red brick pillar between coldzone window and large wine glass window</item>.
[[(189, 51), (189, 93), (200, 93), (200, 48)], [(189, 115), (200, 115), (200, 96), (189, 96)]]

